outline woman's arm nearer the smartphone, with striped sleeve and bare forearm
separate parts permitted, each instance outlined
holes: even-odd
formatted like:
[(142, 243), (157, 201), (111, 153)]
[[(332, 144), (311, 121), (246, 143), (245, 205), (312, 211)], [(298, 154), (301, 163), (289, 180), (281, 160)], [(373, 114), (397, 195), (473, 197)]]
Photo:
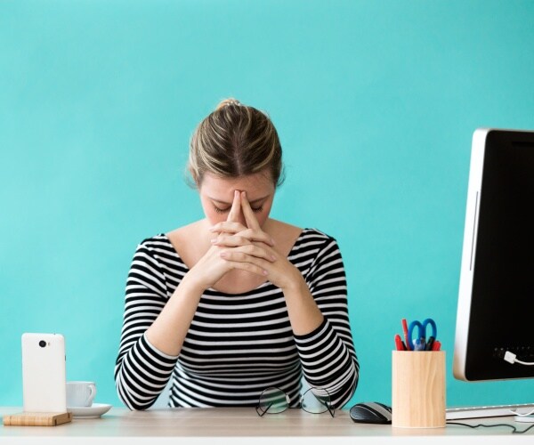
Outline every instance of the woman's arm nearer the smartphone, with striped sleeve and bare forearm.
[(213, 262), (206, 256), (223, 263), (211, 253), (195, 271), (195, 267), (190, 271), (184, 267), (178, 271), (182, 276), (169, 296), (162, 258), (164, 250), (173, 254), (172, 249), (157, 238), (143, 241), (128, 273), (115, 382), (119, 398), (130, 409), (150, 408), (166, 387), (200, 297), (210, 286), (196, 277), (209, 278), (209, 264)]

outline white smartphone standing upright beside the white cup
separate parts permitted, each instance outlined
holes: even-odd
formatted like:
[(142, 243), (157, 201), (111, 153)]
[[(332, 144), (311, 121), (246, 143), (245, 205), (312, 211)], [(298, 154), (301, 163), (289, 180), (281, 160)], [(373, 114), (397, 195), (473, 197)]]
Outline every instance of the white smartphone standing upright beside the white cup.
[(66, 412), (65, 374), (61, 334), (22, 334), (24, 412)]

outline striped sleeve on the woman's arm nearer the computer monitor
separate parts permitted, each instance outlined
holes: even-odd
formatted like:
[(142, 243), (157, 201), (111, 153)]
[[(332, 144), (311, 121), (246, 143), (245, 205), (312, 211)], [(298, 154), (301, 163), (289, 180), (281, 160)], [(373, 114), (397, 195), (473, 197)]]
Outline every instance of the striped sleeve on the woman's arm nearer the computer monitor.
[(303, 375), (312, 387), (328, 390), (341, 408), (358, 384), (359, 363), (352, 343), (344, 263), (336, 240), (325, 240), (306, 276), (325, 320), (305, 336), (295, 336)]

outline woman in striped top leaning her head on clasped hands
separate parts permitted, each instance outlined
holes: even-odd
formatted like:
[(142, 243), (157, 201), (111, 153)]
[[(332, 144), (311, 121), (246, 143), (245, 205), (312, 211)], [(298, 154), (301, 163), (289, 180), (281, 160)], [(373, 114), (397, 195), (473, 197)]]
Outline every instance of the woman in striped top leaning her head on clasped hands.
[(344, 265), (336, 240), (269, 218), (282, 171), (269, 117), (235, 100), (204, 119), (190, 174), (206, 218), (142, 241), (126, 283), (115, 369), (130, 409), (172, 378), (170, 407), (255, 406), (277, 386), (297, 406), (301, 377), (352, 396)]

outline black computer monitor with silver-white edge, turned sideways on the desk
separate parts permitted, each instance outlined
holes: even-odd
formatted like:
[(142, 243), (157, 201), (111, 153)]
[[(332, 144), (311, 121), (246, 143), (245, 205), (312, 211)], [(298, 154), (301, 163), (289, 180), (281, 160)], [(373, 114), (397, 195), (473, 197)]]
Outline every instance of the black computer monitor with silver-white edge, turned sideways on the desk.
[(534, 132), (473, 134), (453, 372), (534, 377)]

